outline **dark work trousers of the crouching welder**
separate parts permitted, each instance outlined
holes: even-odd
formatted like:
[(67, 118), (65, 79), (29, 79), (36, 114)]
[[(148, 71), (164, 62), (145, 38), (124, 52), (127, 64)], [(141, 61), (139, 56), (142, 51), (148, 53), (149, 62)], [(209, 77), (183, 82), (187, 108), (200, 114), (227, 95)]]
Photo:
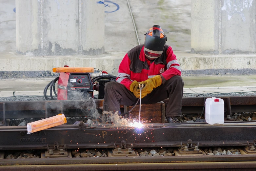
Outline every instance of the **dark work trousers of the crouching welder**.
[[(181, 76), (173, 76), (165, 84), (153, 89), (141, 99), (142, 104), (157, 103), (169, 98), (166, 108), (166, 117), (181, 116), (181, 100), (183, 97), (184, 82)], [(120, 111), (120, 104), (133, 106), (138, 98), (129, 91), (123, 84), (108, 82), (104, 86), (104, 111)], [(138, 103), (139, 104), (139, 103)]]

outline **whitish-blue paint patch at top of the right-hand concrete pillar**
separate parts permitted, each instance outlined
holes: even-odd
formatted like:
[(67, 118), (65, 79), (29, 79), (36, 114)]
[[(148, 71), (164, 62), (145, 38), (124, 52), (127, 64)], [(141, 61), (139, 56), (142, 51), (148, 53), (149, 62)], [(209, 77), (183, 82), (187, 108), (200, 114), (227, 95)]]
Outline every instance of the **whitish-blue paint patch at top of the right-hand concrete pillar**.
[(232, 15), (238, 14), (245, 21), (244, 9), (252, 7), (253, 0), (225, 0), (222, 10), (226, 10), (227, 19), (230, 20)]

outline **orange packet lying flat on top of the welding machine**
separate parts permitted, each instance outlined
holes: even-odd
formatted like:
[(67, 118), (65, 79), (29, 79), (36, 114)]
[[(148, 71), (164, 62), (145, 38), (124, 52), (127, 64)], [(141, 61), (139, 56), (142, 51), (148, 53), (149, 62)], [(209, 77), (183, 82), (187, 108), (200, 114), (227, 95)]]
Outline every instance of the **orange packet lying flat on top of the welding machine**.
[(93, 73), (93, 67), (59, 67), (52, 68), (55, 73)]

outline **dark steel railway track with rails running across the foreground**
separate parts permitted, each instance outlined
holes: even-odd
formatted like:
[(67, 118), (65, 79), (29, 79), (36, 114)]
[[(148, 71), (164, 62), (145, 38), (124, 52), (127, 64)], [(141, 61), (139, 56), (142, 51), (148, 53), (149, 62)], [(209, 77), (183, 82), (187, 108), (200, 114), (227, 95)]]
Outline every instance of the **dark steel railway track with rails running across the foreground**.
[[(221, 97), (225, 115), (256, 111), (256, 97)], [(97, 107), (102, 100), (96, 100)], [(164, 101), (166, 103), (166, 101)], [(256, 168), (256, 122), (225, 120), (223, 125), (201, 123), (148, 123), (143, 128), (113, 124), (61, 125), (32, 134), (26, 126), (8, 126), (13, 118), (47, 118), (58, 113), (66, 117), (87, 116), (88, 100), (1, 102), (0, 170), (254, 170)], [(201, 113), (203, 97), (185, 97), (183, 114)], [(209, 148), (232, 149), (239, 155), (212, 155)], [(233, 148), (232, 148), (233, 147)], [(88, 150), (105, 152), (100, 155)], [(159, 150), (162, 149), (162, 150)], [(163, 151), (164, 149), (164, 151)], [(207, 150), (208, 151), (207, 151)], [(21, 158), (12, 154), (37, 151)], [(78, 154), (86, 153), (80, 157)], [(148, 154), (142, 154), (148, 150)], [(156, 150), (152, 157), (150, 150)], [(221, 150), (221, 151), (222, 151)], [(76, 151), (76, 153), (74, 153)], [(40, 153), (40, 155), (39, 155)], [(215, 150), (216, 153), (216, 150)], [(223, 152), (224, 153), (224, 152)], [(10, 157), (11, 155), (12, 157)], [(78, 154), (78, 155), (77, 155)], [(207, 155), (208, 154), (208, 155)], [(240, 155), (241, 154), (241, 155)], [(9, 157), (7, 157), (9, 155)], [(23, 155), (24, 154), (20, 154)], [(76, 155), (76, 157), (75, 157)], [(145, 155), (145, 156), (144, 156)], [(37, 156), (37, 155), (35, 155)], [(64, 157), (65, 156), (65, 157)], [(79, 156), (79, 158), (77, 157)], [(8, 159), (9, 158), (9, 159)]]

